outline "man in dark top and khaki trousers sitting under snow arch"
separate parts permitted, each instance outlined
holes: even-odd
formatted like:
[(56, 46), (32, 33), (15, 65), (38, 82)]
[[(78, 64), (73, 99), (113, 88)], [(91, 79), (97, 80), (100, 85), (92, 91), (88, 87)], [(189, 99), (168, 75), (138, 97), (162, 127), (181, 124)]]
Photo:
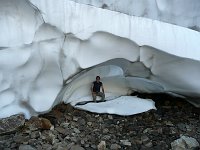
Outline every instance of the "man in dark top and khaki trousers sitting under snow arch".
[[(102, 89), (102, 92), (101, 92), (101, 89)], [(93, 101), (96, 102), (96, 96), (100, 96), (102, 101), (105, 100), (104, 87), (103, 87), (103, 83), (100, 82), (100, 76), (96, 76), (96, 81), (94, 81), (92, 84), (91, 92), (92, 92)]]

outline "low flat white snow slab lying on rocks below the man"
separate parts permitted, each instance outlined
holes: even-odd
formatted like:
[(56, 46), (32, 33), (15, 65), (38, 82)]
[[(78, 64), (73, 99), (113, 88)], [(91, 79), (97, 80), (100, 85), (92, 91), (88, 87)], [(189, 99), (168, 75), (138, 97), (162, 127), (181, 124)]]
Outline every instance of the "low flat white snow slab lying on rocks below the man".
[(153, 100), (134, 96), (121, 96), (106, 102), (87, 103), (75, 107), (95, 113), (108, 113), (122, 116), (134, 115), (150, 109), (156, 109)]

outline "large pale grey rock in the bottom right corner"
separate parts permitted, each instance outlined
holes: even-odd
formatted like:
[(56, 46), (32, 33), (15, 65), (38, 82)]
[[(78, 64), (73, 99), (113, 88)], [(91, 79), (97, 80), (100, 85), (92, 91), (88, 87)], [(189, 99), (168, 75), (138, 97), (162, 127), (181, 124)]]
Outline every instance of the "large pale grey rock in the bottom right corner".
[(192, 150), (199, 148), (199, 143), (196, 139), (187, 136), (181, 136), (179, 139), (171, 143), (172, 150), (188, 149)]

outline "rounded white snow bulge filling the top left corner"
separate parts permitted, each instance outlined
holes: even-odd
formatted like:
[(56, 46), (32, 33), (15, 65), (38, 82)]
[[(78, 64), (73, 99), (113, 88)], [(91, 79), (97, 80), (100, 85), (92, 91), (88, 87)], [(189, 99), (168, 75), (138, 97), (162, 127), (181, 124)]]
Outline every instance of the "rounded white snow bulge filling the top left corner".
[(27, 0), (0, 1), (0, 47), (30, 44), (42, 16)]

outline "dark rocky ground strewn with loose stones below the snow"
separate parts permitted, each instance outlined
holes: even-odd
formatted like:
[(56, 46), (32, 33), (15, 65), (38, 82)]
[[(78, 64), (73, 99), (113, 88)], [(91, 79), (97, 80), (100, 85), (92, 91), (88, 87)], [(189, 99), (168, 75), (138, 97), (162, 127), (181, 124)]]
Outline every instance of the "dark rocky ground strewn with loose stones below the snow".
[(0, 149), (199, 149), (200, 109), (167, 95), (138, 96), (154, 99), (157, 110), (118, 116), (59, 104), (30, 120), (23, 115), (2, 119)]

